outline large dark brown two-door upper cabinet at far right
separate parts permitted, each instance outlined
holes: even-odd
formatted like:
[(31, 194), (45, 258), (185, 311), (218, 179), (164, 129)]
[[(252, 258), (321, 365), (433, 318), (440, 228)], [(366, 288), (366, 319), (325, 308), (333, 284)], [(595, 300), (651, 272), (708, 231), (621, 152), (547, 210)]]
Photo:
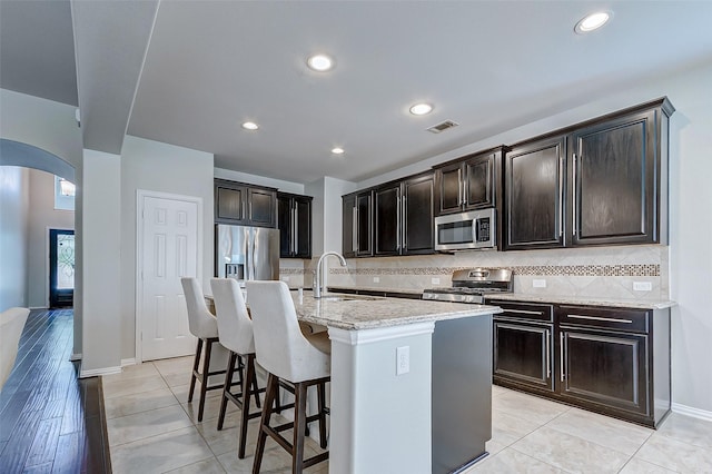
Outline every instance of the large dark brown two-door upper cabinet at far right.
[(666, 98), (516, 145), (504, 249), (668, 243)]

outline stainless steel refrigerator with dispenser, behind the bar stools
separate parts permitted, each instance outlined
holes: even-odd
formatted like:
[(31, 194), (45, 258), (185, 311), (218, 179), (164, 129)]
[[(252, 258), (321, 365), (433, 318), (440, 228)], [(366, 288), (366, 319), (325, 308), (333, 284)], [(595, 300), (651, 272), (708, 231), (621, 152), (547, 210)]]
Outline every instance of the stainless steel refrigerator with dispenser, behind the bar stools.
[(279, 229), (215, 226), (215, 274), (235, 278), (279, 279)]

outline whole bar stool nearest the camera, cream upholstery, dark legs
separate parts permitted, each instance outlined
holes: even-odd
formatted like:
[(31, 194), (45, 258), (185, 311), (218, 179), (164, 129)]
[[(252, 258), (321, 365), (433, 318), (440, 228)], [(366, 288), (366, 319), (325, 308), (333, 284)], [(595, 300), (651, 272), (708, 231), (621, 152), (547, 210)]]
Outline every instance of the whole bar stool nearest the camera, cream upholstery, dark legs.
[[(284, 282), (247, 282), (246, 285), (253, 314), (257, 363), (269, 373), (253, 474), (259, 473), (267, 435), (291, 454), (291, 472), (301, 473), (303, 468), (326, 461), (329, 456), (325, 452), (304, 458), (307, 423), (318, 419), (319, 444), (326, 448), (328, 412), (325, 406), (325, 389), (330, 379), (332, 366), (328, 336), (319, 333), (310, 342), (301, 334), (289, 288)], [(288, 382), (294, 386), (294, 422), (273, 426), (269, 424), (273, 401), (280, 382)], [(306, 416), (307, 388), (312, 385), (317, 386), (318, 413)], [(291, 443), (280, 434), (289, 428), (293, 428)]]

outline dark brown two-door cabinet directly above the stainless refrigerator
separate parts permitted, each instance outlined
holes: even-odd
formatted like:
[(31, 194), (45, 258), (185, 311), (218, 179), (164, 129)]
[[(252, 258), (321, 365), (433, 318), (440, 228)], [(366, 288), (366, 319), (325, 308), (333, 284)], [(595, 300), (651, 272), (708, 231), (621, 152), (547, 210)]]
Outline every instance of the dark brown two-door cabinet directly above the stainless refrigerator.
[(276, 227), (277, 190), (215, 179), (215, 221)]

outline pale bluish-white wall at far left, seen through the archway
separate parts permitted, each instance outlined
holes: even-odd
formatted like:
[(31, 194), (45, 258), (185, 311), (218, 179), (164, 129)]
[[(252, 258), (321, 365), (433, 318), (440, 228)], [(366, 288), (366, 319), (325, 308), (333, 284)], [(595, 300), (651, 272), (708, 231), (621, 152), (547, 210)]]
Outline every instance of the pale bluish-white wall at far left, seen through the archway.
[(29, 172), (0, 166), (0, 312), (27, 304)]

